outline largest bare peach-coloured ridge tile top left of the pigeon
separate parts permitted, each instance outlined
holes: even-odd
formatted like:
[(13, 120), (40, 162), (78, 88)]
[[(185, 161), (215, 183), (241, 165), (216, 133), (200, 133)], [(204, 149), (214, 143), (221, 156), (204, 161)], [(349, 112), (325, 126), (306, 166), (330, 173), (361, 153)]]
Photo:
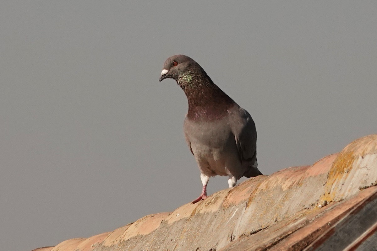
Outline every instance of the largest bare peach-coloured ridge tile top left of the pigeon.
[(168, 215), (169, 213), (150, 214), (138, 219), (127, 228), (121, 237), (121, 241), (123, 242), (124, 240), (128, 240), (140, 234), (146, 235), (151, 233), (160, 226), (161, 222), (166, 219)]

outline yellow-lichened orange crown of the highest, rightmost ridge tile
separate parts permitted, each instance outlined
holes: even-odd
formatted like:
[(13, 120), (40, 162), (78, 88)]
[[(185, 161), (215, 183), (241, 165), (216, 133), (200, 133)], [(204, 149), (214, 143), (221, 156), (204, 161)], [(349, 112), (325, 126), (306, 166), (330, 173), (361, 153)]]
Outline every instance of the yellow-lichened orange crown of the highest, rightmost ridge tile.
[(325, 185), (325, 194), (321, 201), (334, 201), (337, 194), (342, 190), (342, 186), (346, 180), (352, 179), (348, 177), (352, 168), (360, 168), (360, 165), (355, 165), (355, 161), (363, 158), (368, 154), (377, 153), (377, 134), (368, 135), (359, 138), (349, 145), (347, 145), (342, 152), (339, 153), (335, 159), (327, 177)]

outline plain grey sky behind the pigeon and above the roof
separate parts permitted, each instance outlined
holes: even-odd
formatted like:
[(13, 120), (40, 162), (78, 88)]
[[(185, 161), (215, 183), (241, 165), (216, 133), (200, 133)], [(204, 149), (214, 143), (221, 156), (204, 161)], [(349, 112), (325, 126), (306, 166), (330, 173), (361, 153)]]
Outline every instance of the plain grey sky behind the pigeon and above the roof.
[[(376, 1), (2, 1), (1, 249), (112, 231), (199, 195), (186, 97), (158, 82), (174, 54), (249, 111), (264, 174), (376, 133), (376, 12)], [(227, 187), (211, 178), (208, 193)]]

